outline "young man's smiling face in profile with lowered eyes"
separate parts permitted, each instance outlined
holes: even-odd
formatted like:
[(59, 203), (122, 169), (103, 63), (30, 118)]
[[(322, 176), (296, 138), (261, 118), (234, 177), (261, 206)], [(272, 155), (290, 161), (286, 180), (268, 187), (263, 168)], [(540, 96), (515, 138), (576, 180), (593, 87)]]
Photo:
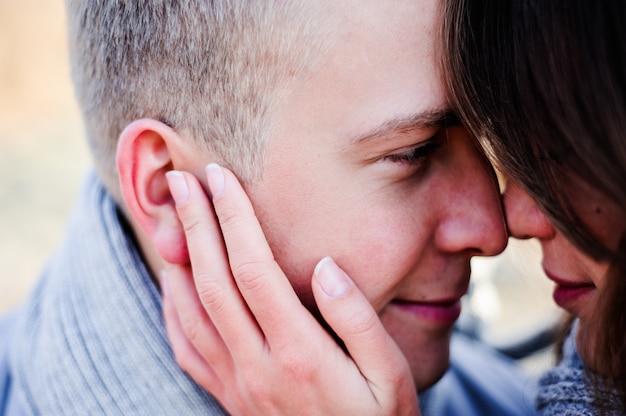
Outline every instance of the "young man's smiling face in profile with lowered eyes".
[[(370, 299), (418, 388), (448, 366), (472, 255), (506, 244), (490, 168), (448, 111), (434, 0), (356, 2), (322, 62), (272, 118), (247, 188), (278, 263), (314, 309), (330, 255)], [(345, 11), (344, 11), (345, 12)]]

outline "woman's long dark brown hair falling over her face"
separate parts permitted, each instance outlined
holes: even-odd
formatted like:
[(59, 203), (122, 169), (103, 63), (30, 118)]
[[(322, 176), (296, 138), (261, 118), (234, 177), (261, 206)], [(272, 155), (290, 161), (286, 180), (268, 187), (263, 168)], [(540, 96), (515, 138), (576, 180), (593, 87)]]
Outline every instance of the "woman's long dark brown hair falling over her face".
[[(445, 9), (444, 70), (463, 122), (557, 229), (611, 262), (594, 359), (626, 407), (626, 2), (449, 0)], [(617, 248), (577, 215), (564, 186), (572, 177), (620, 210)]]

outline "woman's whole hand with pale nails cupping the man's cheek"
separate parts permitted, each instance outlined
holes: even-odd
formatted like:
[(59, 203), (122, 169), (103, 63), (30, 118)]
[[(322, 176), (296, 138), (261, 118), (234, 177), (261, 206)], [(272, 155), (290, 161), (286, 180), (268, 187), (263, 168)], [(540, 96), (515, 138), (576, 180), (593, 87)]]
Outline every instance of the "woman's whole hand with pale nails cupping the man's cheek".
[[(232, 414), (419, 414), (408, 364), (330, 258), (312, 279), (348, 353), (300, 303), (235, 176), (168, 173), (191, 264), (168, 265), (164, 315), (176, 360)], [(193, 269), (193, 272), (192, 272)]]

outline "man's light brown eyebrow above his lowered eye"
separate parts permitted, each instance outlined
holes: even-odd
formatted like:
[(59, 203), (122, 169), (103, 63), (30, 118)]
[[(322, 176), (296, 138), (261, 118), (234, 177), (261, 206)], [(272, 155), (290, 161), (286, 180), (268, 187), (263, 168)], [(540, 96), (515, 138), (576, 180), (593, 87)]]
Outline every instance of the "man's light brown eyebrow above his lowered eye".
[(397, 117), (387, 120), (367, 133), (358, 135), (351, 142), (370, 142), (380, 140), (391, 133), (402, 133), (416, 129), (431, 129), (434, 127), (453, 127), (460, 125), (461, 121), (459, 117), (450, 109), (423, 111), (406, 117)]

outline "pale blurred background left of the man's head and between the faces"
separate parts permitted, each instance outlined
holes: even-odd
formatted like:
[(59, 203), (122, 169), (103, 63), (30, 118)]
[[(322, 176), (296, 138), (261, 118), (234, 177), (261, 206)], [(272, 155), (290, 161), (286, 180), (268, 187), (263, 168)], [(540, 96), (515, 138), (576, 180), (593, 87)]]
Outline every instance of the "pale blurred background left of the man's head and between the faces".
[[(62, 0), (0, 0), (0, 313), (25, 298), (62, 238), (90, 159), (74, 101)], [(534, 242), (473, 261), (460, 327), (514, 351), (558, 319)], [(523, 360), (538, 372), (551, 354)]]

